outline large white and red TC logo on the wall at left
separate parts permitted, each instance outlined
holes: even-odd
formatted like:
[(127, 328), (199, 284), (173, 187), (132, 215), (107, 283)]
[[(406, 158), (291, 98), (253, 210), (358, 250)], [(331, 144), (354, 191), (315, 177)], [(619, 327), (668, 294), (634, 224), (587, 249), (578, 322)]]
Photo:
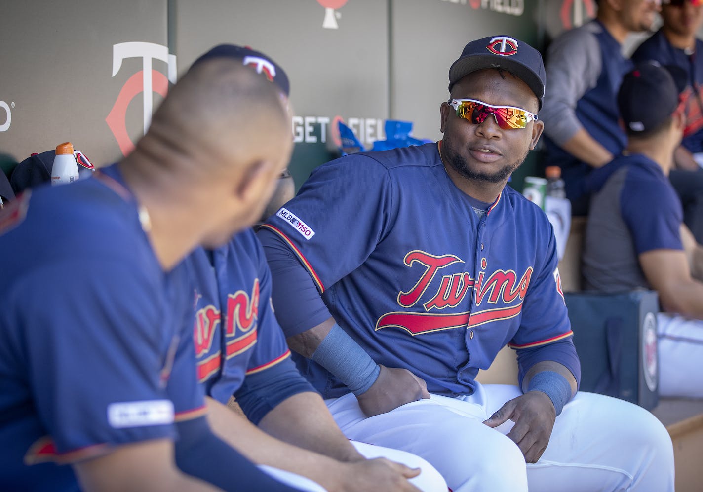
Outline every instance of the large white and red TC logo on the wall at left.
[[(169, 82), (176, 83), (176, 56), (169, 54), (166, 46), (141, 41), (131, 41), (112, 46), (112, 77), (120, 72), (122, 61), (126, 58), (141, 58), (142, 70), (136, 72), (124, 83), (115, 104), (105, 118), (112, 135), (115, 136), (117, 145), (120, 145), (122, 155), (134, 150), (134, 142), (127, 132), (127, 107), (139, 94), (143, 93), (143, 133), (149, 128), (153, 112), (153, 93), (162, 97), (169, 90)], [(153, 70), (153, 60), (160, 60), (167, 64), (168, 78), (161, 72)]]

